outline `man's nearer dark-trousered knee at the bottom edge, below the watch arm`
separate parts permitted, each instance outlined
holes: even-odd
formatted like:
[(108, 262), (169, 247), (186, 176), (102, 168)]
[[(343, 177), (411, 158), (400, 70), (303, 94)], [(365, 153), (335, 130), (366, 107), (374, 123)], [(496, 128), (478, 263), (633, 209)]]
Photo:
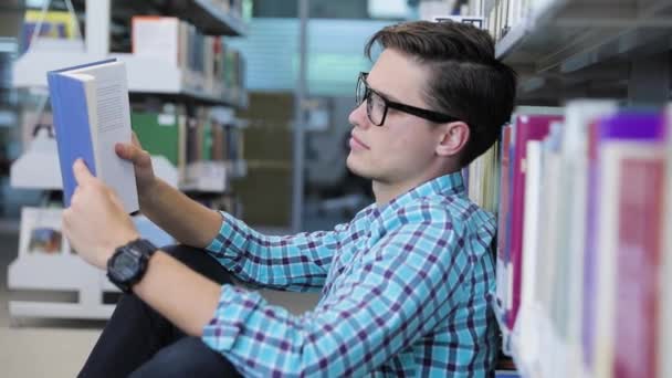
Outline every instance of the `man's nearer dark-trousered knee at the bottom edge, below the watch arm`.
[(240, 377), (222, 355), (200, 338), (185, 337), (159, 350), (130, 377)]

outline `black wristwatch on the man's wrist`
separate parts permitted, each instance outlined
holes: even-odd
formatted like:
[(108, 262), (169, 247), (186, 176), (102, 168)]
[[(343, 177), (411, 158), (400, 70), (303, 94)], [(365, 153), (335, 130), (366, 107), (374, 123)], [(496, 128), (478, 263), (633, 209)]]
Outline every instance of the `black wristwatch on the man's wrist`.
[(145, 239), (136, 239), (117, 248), (107, 261), (107, 277), (122, 292), (129, 293), (133, 285), (145, 275), (149, 258), (157, 250), (158, 248)]

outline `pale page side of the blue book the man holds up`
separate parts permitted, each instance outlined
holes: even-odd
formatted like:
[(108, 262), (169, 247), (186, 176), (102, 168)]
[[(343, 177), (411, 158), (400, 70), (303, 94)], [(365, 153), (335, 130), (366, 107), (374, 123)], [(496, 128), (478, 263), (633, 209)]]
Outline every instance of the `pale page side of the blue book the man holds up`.
[(95, 95), (92, 98), (87, 94), (87, 99), (88, 108), (95, 108), (91, 134), (97, 176), (115, 190), (127, 212), (136, 211), (139, 206), (133, 165), (120, 159), (114, 148), (117, 143), (132, 140), (126, 70), (123, 63), (114, 62), (84, 71), (95, 78)]

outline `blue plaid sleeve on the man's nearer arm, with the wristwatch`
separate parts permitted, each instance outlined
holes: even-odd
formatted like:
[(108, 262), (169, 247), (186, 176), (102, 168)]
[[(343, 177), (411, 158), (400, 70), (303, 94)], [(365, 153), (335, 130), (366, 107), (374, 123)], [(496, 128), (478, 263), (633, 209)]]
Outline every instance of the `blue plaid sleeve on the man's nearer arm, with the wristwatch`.
[(463, 301), (454, 232), (403, 225), (335, 279), (302, 316), (225, 285), (203, 342), (250, 377), (361, 376), (406, 349)]

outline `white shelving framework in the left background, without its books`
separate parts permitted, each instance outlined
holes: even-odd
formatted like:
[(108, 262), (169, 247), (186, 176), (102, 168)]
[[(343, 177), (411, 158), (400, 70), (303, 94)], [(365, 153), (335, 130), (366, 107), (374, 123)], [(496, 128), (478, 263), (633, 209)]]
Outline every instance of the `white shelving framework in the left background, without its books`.
[[(38, 44), (30, 48), (20, 56), (13, 66), (13, 86), (20, 88), (44, 88), (46, 86), (46, 72), (64, 66), (98, 61), (108, 57), (117, 57), (126, 64), (128, 77), (128, 91), (132, 94), (157, 96), (172, 102), (188, 102), (207, 106), (224, 108), (245, 107), (248, 102), (246, 91), (232, 91), (233, 94), (208, 93), (204, 90), (191, 87), (183, 76), (185, 73), (178, 66), (166, 64), (160, 59), (151, 56), (136, 56), (133, 53), (111, 53), (109, 35), (112, 30), (112, 18), (116, 13), (129, 18), (135, 14), (144, 14), (146, 7), (156, 1), (148, 2), (115, 2), (112, 0), (80, 0), (75, 4), (84, 4), (85, 15), (85, 40), (75, 49), (53, 50), (41, 49)], [(221, 2), (221, 1), (219, 1)], [(165, 4), (164, 4), (165, 6)], [(145, 8), (143, 8), (145, 7)], [(239, 14), (230, 14), (216, 4), (214, 0), (186, 0), (171, 2), (170, 13), (180, 19), (196, 23), (199, 30), (210, 35), (243, 35), (246, 25)], [(167, 7), (160, 7), (167, 10)], [(168, 10), (167, 10), (168, 11)], [(156, 12), (151, 13), (156, 14)], [(53, 46), (52, 46), (53, 48)], [(72, 48), (72, 45), (71, 45)], [(43, 90), (42, 90), (43, 91)], [(232, 114), (232, 112), (229, 112)], [(27, 148), (24, 155), (19, 158), (11, 172), (11, 182), (19, 188), (39, 189), (44, 191), (57, 191), (62, 189), (60, 167), (55, 149), (55, 140), (42, 138), (35, 148)], [(241, 177), (246, 172), (244, 161), (232, 161), (214, 164), (217, 167), (206, 167), (209, 171), (218, 171), (214, 180), (191, 182), (191, 187), (182, 188), (178, 182), (178, 171), (166, 158), (153, 157), (157, 176), (180, 189), (196, 191), (224, 192), (225, 180), (232, 177)], [(45, 168), (46, 171), (45, 171)], [(187, 167), (189, 170), (207, 170), (202, 167)], [(48, 174), (48, 175), (45, 175)], [(193, 175), (192, 175), (193, 176)], [(50, 210), (50, 209), (46, 209)], [(24, 209), (24, 212), (32, 209)], [(49, 211), (46, 211), (49, 213)], [(43, 217), (39, 216), (38, 218)], [(34, 218), (34, 217), (33, 217)], [(44, 216), (49, 218), (49, 216)], [(60, 220), (60, 218), (56, 218)], [(33, 219), (34, 220), (34, 219)], [(44, 221), (42, 219), (41, 221)], [(147, 220), (135, 219), (147, 223)], [(22, 219), (22, 228), (28, 224)], [(57, 224), (56, 224), (57, 227)], [(145, 224), (146, 227), (146, 224)], [(143, 229), (138, 225), (140, 232)], [(21, 240), (30, 230), (21, 230)], [(60, 237), (59, 237), (60, 238)], [(104, 294), (117, 292), (104, 272), (101, 272), (82, 261), (72, 253), (65, 244), (60, 253), (28, 253), (22, 251), (25, 245), (20, 245), (19, 256), (8, 269), (8, 287), (15, 291), (60, 291), (74, 292), (77, 298), (74, 303), (38, 302), (38, 301), (10, 301), (9, 311), (12, 317), (55, 317), (55, 318), (88, 318), (105, 319), (114, 311), (114, 304), (104, 301)]]

